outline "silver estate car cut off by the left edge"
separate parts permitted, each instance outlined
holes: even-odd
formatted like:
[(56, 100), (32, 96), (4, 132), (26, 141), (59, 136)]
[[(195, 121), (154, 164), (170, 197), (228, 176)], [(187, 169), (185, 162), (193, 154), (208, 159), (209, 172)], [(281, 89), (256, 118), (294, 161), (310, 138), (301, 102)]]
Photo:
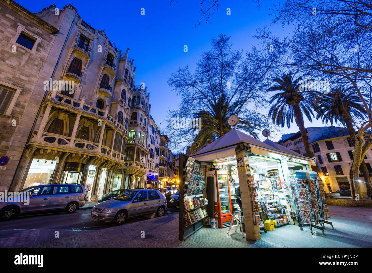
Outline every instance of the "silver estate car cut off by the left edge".
[[(8, 221), (29, 212), (75, 212), (85, 205), (85, 190), (78, 184), (48, 184), (23, 189), (16, 200), (0, 202), (0, 220)], [(26, 201), (26, 202), (25, 202)]]

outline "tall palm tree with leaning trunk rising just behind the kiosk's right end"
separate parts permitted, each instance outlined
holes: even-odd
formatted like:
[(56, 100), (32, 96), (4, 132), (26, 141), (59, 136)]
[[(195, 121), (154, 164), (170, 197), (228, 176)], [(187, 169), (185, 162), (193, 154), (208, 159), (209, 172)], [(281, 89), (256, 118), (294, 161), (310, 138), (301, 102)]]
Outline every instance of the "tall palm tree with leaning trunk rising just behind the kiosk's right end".
[(320, 93), (314, 90), (304, 90), (306, 88), (303, 88), (302, 80), (302, 76), (295, 79), (294, 75), (284, 73), (282, 77), (274, 79), (277, 85), (270, 87), (267, 91), (282, 92), (278, 92), (270, 98), (270, 104), (275, 103), (270, 107), (269, 117), (272, 118), (276, 125), (284, 127), (286, 124), (288, 128), (291, 127), (293, 118), (295, 118), (305, 146), (306, 155), (312, 157), (303, 115), (312, 121), (312, 117), (314, 117), (313, 109), (318, 97), (320, 97)]

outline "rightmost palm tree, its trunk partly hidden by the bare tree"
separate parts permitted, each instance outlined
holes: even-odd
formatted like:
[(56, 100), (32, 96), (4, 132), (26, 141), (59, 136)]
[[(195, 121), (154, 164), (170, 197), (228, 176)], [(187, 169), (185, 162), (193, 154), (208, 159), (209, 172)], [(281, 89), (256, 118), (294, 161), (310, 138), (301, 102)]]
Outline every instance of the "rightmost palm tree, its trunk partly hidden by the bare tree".
[[(346, 126), (349, 132), (350, 142), (355, 146), (355, 119), (365, 119), (366, 109), (363, 107), (360, 97), (350, 90), (345, 90), (343, 87), (332, 88), (331, 92), (325, 94), (319, 105), (317, 119), (321, 117), (323, 123), (333, 121), (337, 124), (340, 122)], [(371, 179), (366, 163), (362, 160), (360, 171), (366, 182), (368, 195), (372, 194)], [(350, 181), (353, 181), (352, 169), (350, 168)], [(358, 182), (356, 182), (358, 183)], [(350, 183), (352, 188), (355, 188), (354, 183)], [(355, 190), (353, 191), (355, 192)]]

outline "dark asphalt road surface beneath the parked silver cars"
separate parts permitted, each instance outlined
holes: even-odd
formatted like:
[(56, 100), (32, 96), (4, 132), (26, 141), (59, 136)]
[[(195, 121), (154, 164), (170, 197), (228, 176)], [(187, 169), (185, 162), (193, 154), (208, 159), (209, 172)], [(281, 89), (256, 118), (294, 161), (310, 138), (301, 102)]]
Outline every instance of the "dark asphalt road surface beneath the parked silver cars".
[[(166, 215), (172, 213), (174, 212), (166, 211)], [(145, 215), (129, 218), (128, 223), (147, 220), (151, 217), (152, 215)], [(115, 225), (93, 219), (90, 216), (90, 209), (78, 210), (73, 214), (57, 212), (24, 215), (11, 221), (0, 222), (0, 230), (101, 230), (111, 227)]]

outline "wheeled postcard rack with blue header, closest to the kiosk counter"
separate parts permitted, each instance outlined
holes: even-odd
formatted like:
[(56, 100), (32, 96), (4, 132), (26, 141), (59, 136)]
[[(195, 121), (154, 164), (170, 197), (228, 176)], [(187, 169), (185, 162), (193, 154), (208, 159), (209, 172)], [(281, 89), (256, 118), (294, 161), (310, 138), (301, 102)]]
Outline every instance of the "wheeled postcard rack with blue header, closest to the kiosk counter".
[(316, 228), (321, 230), (323, 235), (325, 235), (324, 225), (317, 225), (319, 219), (318, 208), (312, 206), (312, 198), (308, 189), (309, 185), (309, 179), (296, 179), (291, 181), (292, 198), (295, 205), (298, 227), (301, 230), (303, 230), (302, 227), (310, 227), (311, 234), (314, 234), (312, 229)]

